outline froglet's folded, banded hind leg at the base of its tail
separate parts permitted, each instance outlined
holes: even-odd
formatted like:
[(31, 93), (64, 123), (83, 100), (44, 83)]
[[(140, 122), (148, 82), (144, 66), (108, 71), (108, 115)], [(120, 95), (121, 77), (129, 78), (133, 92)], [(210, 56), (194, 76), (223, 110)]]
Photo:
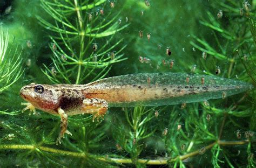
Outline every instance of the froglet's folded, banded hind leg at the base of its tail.
[(83, 100), (82, 110), (84, 113), (92, 114), (94, 122), (95, 118), (98, 120), (106, 114), (107, 107), (109, 104), (104, 99), (92, 98)]

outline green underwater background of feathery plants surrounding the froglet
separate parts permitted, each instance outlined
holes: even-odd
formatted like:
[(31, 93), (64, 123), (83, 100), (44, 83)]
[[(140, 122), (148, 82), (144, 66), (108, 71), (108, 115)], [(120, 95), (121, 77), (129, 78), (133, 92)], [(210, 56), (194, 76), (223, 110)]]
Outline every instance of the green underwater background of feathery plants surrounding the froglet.
[[(256, 1), (0, 2), (0, 167), (255, 167)], [(171, 53), (170, 53), (171, 52)], [(131, 73), (218, 75), (254, 89), (226, 99), (109, 108), (104, 120), (22, 113), (31, 82)]]

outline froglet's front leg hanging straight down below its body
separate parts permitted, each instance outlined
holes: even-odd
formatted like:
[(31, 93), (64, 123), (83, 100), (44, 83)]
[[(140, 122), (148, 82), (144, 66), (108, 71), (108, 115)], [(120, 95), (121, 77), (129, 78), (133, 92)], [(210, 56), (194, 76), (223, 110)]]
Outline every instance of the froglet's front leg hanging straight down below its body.
[(65, 133), (72, 136), (71, 132), (67, 130), (68, 128), (68, 115), (65, 114), (65, 111), (61, 108), (58, 108), (58, 114), (60, 116), (60, 133), (59, 137), (57, 138), (56, 145), (61, 144), (60, 140), (63, 137)]

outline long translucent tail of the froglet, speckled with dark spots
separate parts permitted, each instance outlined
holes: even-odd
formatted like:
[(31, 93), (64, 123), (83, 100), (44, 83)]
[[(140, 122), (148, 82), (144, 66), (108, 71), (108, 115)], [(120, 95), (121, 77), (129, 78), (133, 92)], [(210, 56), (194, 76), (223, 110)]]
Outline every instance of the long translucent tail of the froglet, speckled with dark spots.
[[(252, 89), (249, 83), (190, 73), (142, 73), (114, 76), (88, 84), (110, 106), (163, 106), (225, 99)], [(101, 97), (100, 97), (101, 96)]]

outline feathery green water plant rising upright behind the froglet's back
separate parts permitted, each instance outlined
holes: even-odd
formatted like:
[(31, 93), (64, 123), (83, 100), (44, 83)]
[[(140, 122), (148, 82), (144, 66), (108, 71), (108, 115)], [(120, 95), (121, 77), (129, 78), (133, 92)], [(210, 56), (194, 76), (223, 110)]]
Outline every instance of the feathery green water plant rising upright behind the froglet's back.
[(112, 64), (126, 59), (120, 53), (125, 45), (114, 51), (123, 39), (116, 43), (112, 41), (114, 35), (129, 24), (119, 23), (120, 11), (114, 16), (111, 11), (104, 12), (105, 0), (41, 1), (41, 5), (54, 19), (50, 23), (42, 16), (37, 16), (41, 25), (55, 32), (50, 35), (52, 44), (49, 45), (53, 52), (53, 65), (51, 68), (44, 65), (46, 69), (43, 71), (53, 83), (95, 81), (104, 78)]

